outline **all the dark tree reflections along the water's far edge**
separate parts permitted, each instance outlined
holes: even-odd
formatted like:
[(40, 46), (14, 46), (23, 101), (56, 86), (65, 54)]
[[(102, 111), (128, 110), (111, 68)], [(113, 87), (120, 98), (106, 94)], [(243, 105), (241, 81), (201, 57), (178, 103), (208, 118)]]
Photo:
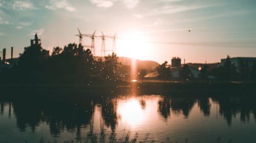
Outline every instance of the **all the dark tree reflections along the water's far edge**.
[[(150, 97), (143, 96), (143, 98), (138, 99), (142, 108), (145, 108), (147, 98)], [(218, 112), (228, 125), (231, 125), (232, 117), (239, 114), (242, 122), (249, 121), (251, 113), (253, 113), (256, 120), (256, 97), (221, 95), (212, 96), (211, 99), (218, 104)], [(159, 98), (156, 100), (159, 100)], [(198, 101), (204, 116), (208, 117), (211, 106), (208, 97), (164, 96), (158, 101), (158, 113), (167, 120), (170, 116), (170, 109), (172, 109), (172, 112), (183, 113), (187, 118), (196, 101)], [(12, 104), (11, 102), (0, 102), (0, 113), (3, 115), (4, 110), (8, 110), (9, 106), (10, 117), (12, 108), (20, 131), (26, 131), (26, 129), (30, 128), (34, 132), (41, 123), (47, 123), (50, 133), (54, 136), (58, 136), (63, 130), (67, 130), (76, 132), (77, 137), (80, 137), (81, 128), (91, 124), (95, 103), (98, 102), (94, 101), (93, 103), (90, 99), (78, 102), (50, 102), (47, 100), (37, 102), (20, 100), (14, 101)], [(114, 131), (118, 124), (117, 99), (105, 99), (100, 103), (102, 123), (111, 127), (112, 131)]]

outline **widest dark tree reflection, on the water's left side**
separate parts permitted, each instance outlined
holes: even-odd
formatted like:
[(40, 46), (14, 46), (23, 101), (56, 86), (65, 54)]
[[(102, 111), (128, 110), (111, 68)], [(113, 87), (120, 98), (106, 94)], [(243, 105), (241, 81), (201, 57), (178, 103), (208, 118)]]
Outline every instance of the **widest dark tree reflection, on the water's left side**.
[(90, 124), (93, 106), (90, 101), (81, 103), (60, 102), (13, 102), (13, 111), (17, 127), (25, 131), (30, 127), (32, 132), (39, 123), (46, 122), (52, 135), (57, 136), (62, 130), (76, 131), (80, 137), (80, 128)]

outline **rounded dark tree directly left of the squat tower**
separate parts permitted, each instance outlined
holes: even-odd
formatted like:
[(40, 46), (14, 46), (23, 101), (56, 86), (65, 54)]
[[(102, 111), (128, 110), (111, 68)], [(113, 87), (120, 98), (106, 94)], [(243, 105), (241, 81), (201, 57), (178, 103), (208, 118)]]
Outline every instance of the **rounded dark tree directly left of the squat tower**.
[(172, 73), (170, 72), (170, 67), (167, 65), (167, 61), (165, 61), (162, 65), (157, 67), (158, 78), (163, 79), (164, 81), (170, 77), (172, 77)]

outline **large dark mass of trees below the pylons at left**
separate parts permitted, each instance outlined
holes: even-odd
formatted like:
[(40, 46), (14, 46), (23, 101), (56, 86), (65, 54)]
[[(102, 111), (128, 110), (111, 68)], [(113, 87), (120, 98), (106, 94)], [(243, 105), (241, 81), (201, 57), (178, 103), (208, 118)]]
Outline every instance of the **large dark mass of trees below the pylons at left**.
[(92, 80), (117, 81), (122, 64), (116, 54), (94, 59), (89, 49), (70, 43), (63, 49), (54, 47), (52, 54), (40, 45), (25, 47), (18, 64), (1, 73), (3, 82), (92, 84)]

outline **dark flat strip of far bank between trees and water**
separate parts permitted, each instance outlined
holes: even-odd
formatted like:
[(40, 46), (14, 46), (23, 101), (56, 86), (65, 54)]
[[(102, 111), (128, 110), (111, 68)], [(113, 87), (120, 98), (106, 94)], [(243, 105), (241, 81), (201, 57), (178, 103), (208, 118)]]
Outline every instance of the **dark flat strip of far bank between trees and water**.
[(87, 84), (2, 84), (2, 95), (72, 95), (112, 97), (117, 95), (256, 95), (255, 82), (230, 81), (143, 81)]

